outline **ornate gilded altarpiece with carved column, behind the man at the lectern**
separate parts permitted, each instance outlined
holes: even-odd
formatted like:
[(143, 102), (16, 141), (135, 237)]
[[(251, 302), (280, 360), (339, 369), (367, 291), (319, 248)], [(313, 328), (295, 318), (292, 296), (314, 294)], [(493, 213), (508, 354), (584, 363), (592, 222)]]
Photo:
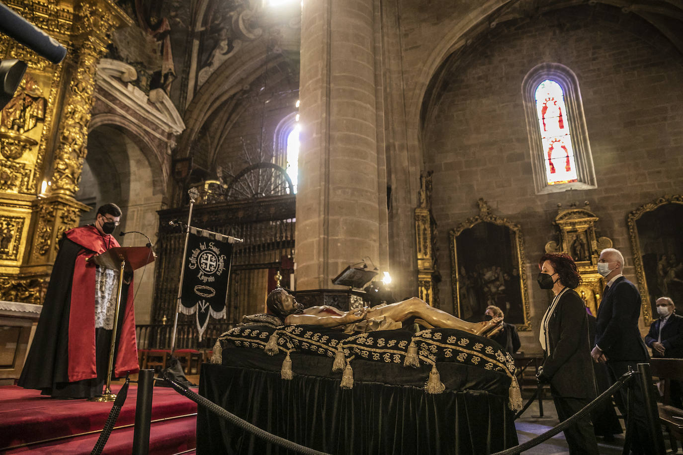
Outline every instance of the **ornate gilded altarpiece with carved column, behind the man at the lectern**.
[(95, 71), (109, 33), (132, 23), (111, 0), (10, 0), (66, 46), (55, 65), (0, 35), (0, 57), (28, 69), (0, 115), (0, 299), (42, 303), (57, 240), (76, 226)]

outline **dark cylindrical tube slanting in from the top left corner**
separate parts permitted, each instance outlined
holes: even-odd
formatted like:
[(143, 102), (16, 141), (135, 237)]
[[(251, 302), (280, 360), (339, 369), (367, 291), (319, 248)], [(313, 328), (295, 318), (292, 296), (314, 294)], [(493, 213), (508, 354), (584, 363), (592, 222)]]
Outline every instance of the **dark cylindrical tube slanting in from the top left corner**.
[(2, 3), (0, 3), (0, 32), (14, 38), (52, 63), (59, 63), (66, 55), (66, 48), (55, 38)]

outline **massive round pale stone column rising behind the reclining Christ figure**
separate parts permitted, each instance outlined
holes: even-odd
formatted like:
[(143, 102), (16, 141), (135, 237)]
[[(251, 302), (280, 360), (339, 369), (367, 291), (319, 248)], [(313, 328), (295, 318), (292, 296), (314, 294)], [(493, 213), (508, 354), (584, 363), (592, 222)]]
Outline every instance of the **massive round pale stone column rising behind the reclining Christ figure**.
[(350, 263), (380, 261), (386, 241), (374, 16), (373, 0), (303, 2), (297, 289), (332, 287)]

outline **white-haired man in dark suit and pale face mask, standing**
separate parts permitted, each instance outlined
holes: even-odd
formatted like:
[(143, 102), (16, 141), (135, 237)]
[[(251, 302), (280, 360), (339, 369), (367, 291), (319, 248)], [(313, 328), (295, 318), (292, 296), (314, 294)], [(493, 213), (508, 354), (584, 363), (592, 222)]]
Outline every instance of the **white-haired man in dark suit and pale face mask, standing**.
[[(624, 256), (618, 250), (602, 250), (598, 259), (598, 273), (607, 280), (607, 287), (598, 308), (596, 345), (591, 356), (596, 362), (607, 362), (613, 382), (628, 370), (637, 371), (637, 364), (650, 359), (638, 329), (641, 296), (635, 285), (624, 278), (623, 267)], [(638, 376), (631, 381), (635, 421), (631, 450), (635, 454), (644, 454), (651, 444), (648, 443), (645, 400), (638, 381)], [(628, 402), (626, 387), (619, 390), (619, 395), (623, 403)], [(623, 409), (622, 414), (626, 415), (625, 411)]]

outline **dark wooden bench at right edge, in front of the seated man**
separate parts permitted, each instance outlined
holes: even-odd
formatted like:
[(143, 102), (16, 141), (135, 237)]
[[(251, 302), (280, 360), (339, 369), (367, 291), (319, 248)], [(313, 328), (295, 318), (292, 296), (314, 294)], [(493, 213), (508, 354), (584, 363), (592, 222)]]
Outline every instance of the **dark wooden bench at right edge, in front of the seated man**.
[(667, 428), (671, 450), (678, 452), (676, 441), (683, 440), (683, 409), (671, 406), (671, 381), (683, 381), (683, 359), (650, 359), (650, 372), (664, 381), (664, 396), (657, 403), (659, 422)]

